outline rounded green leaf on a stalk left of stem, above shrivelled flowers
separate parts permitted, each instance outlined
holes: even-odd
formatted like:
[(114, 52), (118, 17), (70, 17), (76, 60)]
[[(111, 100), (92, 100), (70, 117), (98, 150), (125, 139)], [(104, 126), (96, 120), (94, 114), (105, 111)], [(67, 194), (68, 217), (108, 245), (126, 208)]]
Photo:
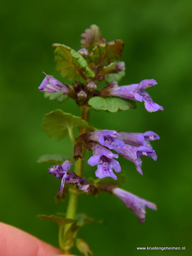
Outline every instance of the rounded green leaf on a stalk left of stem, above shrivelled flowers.
[(89, 128), (88, 122), (82, 120), (80, 117), (58, 109), (45, 115), (42, 130), (47, 132), (50, 138), (61, 140), (68, 135), (68, 132), (71, 134), (75, 126)]

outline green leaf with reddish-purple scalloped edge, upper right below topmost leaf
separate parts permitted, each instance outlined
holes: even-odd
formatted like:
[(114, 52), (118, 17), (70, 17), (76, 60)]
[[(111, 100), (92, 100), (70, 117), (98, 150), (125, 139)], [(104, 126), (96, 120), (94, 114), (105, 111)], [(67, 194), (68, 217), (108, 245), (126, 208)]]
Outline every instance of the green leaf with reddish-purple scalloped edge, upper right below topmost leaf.
[(107, 66), (111, 62), (116, 62), (122, 55), (124, 42), (115, 40), (108, 43), (98, 44), (93, 48), (90, 59), (96, 65)]

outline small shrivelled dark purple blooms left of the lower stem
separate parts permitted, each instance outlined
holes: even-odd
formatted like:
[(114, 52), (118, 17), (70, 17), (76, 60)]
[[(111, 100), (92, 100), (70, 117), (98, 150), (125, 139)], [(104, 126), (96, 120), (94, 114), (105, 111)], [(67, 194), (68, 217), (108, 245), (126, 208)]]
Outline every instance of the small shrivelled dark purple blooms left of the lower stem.
[(48, 169), (48, 172), (55, 176), (56, 178), (62, 178), (61, 186), (60, 186), (60, 193), (62, 193), (64, 185), (66, 182), (77, 184), (80, 190), (84, 192), (88, 192), (91, 189), (91, 185), (85, 180), (85, 178), (80, 178), (74, 172), (68, 173), (68, 170), (71, 167), (71, 162), (66, 160), (62, 163), (62, 165), (54, 165)]

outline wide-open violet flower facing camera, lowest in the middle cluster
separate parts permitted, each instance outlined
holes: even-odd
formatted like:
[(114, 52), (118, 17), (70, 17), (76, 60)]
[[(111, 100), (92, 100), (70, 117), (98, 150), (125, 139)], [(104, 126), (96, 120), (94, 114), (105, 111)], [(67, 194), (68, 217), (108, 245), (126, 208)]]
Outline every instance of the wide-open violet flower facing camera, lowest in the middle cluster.
[(113, 158), (118, 158), (118, 154), (113, 154), (110, 150), (96, 144), (91, 150), (93, 150), (94, 156), (91, 156), (88, 160), (90, 166), (97, 165), (97, 170), (95, 172), (96, 177), (102, 179), (105, 177), (112, 177), (117, 180), (117, 176), (113, 173), (113, 169), (116, 172), (121, 171), (120, 164), (117, 160)]

